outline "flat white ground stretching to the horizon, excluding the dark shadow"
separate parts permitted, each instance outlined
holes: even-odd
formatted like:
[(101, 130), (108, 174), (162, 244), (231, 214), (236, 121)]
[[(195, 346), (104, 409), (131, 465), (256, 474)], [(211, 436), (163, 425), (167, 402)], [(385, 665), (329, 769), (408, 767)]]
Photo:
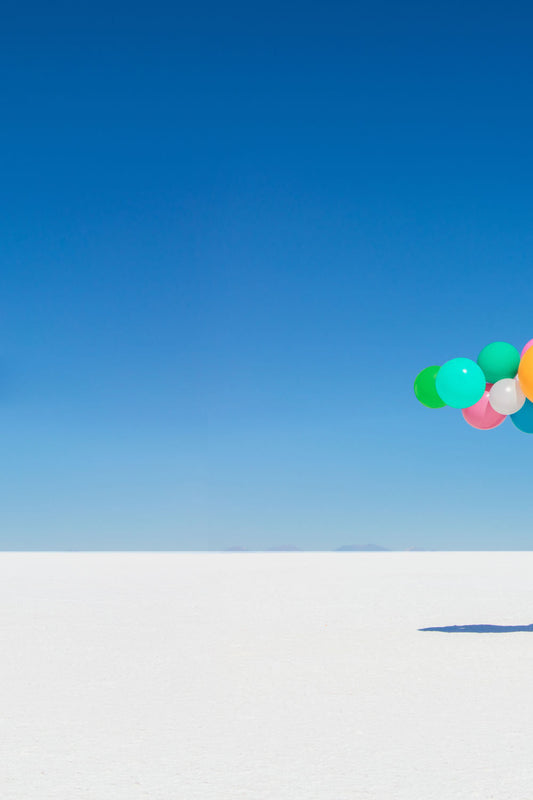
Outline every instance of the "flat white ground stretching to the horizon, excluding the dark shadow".
[(533, 552), (2, 553), (2, 800), (530, 800)]

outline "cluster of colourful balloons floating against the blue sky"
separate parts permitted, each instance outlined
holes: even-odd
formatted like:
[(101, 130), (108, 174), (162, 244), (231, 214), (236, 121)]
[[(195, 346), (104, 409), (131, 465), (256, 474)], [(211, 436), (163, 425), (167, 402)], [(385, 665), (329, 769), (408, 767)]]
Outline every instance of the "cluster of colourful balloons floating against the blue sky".
[(521, 353), (506, 342), (484, 347), (477, 362), (452, 358), (415, 378), (415, 395), (428, 408), (460, 408), (473, 428), (488, 431), (507, 417), (533, 433), (533, 339)]

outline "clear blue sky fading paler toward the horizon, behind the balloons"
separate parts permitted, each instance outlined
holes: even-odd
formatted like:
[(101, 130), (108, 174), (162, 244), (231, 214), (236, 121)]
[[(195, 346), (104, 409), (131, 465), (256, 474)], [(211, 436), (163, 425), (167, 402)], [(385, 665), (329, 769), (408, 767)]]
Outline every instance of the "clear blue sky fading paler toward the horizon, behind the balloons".
[(12, 3), (0, 547), (530, 549), (526, 2)]

